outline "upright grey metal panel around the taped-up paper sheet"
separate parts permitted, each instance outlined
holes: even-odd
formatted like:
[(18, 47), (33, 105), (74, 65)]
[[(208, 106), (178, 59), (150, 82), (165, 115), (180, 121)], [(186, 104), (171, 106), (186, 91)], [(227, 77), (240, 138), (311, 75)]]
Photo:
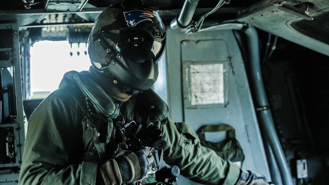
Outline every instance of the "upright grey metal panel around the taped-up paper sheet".
[[(212, 48), (182, 53), (181, 43), (187, 40), (224, 40), (226, 48)], [(250, 88), (242, 61), (240, 49), (232, 31), (204, 31), (186, 35), (176, 30), (167, 29), (167, 61), (170, 117), (175, 121), (187, 122), (194, 131), (205, 124), (227, 123), (236, 128), (246, 159), (243, 169), (262, 173), (270, 179), (265, 150), (260, 135)], [(226, 107), (211, 109), (186, 109), (184, 107), (182, 87), (182, 62), (185, 60), (231, 61), (229, 73), (229, 103)], [(213, 136), (207, 140), (218, 141)], [(197, 184), (180, 177), (177, 184)]]

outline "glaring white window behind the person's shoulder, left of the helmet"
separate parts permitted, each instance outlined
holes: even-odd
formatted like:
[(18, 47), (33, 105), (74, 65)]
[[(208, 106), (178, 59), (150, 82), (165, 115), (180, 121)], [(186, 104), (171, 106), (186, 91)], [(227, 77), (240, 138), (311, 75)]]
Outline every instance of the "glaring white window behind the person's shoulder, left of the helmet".
[[(38, 41), (30, 49), (31, 92), (53, 92), (65, 72), (88, 70), (90, 64), (85, 43), (67, 41)], [(70, 55), (72, 52), (72, 56)], [(78, 56), (78, 53), (79, 56)]]

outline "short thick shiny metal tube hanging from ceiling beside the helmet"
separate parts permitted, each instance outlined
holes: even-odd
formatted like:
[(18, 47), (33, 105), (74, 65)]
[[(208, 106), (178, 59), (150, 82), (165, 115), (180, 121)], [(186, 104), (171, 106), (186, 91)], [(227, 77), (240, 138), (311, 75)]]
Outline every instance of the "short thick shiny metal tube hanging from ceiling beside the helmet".
[(199, 1), (200, 0), (185, 0), (181, 12), (177, 18), (171, 21), (170, 27), (172, 29), (186, 28), (192, 21), (193, 14)]

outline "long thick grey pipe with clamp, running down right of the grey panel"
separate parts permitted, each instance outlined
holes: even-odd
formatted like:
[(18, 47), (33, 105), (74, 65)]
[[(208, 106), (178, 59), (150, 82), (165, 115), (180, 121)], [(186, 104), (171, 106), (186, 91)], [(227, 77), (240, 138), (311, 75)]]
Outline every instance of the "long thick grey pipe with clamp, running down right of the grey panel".
[(271, 111), (268, 108), (269, 104), (266, 97), (260, 67), (257, 31), (254, 27), (248, 27), (244, 33), (247, 36), (247, 48), (249, 49), (249, 61), (251, 63), (251, 80), (253, 83), (252, 85), (254, 88), (253, 92), (255, 97), (254, 103), (256, 109), (258, 110), (257, 115), (261, 133), (263, 137), (267, 138), (268, 143), (271, 146), (283, 184), (293, 185), (291, 171), (287, 164), (287, 159), (284, 155), (278, 135), (276, 134)]

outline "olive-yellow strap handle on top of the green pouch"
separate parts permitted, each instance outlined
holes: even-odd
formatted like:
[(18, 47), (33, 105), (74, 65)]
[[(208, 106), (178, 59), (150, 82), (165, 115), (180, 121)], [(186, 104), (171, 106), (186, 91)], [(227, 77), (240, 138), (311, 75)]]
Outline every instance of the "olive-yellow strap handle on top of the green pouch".
[(235, 138), (235, 129), (229, 124), (205, 125), (199, 128), (197, 134), (200, 140), (206, 140), (205, 132), (221, 132), (226, 131), (230, 138)]

